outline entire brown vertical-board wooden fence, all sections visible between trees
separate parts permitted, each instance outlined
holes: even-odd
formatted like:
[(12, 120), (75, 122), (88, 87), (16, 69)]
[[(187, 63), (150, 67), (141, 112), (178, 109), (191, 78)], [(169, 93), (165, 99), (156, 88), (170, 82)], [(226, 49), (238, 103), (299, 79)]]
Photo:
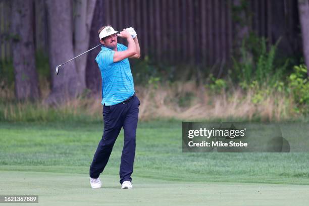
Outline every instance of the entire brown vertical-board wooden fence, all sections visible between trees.
[[(212, 66), (230, 60), (235, 35), (232, 0), (97, 1), (104, 1), (104, 4), (98, 4), (102, 7), (104, 18), (93, 21), (101, 21), (102, 25), (111, 24), (117, 30), (134, 27), (142, 55), (158, 63)], [(5, 38), (9, 32), (10, 19), (7, 2), (0, 2), (1, 59), (10, 59), (12, 56), (10, 41)], [(283, 35), (288, 40), (288, 43), (283, 44), (293, 52), (296, 49), (293, 45), (299, 44), (294, 38), (298, 27), (297, 1), (248, 2), (252, 14), (250, 29), (267, 37), (270, 43)], [(47, 54), (48, 23), (43, 0), (34, 1), (34, 12), (35, 48)]]

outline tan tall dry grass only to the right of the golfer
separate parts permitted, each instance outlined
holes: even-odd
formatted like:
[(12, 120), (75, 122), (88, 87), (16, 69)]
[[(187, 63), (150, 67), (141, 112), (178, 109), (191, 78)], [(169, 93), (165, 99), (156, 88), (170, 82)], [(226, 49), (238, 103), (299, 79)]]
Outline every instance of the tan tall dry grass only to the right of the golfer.
[[(173, 86), (158, 86), (145, 89), (137, 87), (141, 105), (141, 119), (176, 118), (182, 120), (203, 119), (261, 119), (264, 121), (281, 121), (295, 117), (294, 103), (281, 92), (271, 91), (260, 96), (254, 103), (256, 91), (222, 90), (213, 93), (195, 86), (194, 82), (176, 83)], [(180, 107), (175, 100), (179, 94), (191, 93), (194, 98), (188, 105)], [(186, 98), (185, 96), (182, 98)]]

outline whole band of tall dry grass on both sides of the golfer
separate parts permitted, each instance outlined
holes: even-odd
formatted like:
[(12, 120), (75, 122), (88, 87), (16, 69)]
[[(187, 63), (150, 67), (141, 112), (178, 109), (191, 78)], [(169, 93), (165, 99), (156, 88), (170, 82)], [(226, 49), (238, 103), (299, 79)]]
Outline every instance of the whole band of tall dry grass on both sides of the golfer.
[[(2, 121), (101, 121), (102, 105), (99, 94), (70, 99), (57, 107), (45, 104), (49, 87), (42, 86), (42, 99), (36, 102), (16, 102), (14, 92), (1, 91), (0, 120)], [(175, 118), (181, 120), (259, 119), (281, 121), (295, 117), (294, 103), (286, 94), (275, 90), (261, 92), (230, 88), (214, 91), (197, 87), (195, 82), (136, 86), (141, 101), (139, 118), (151, 120)], [(256, 101), (256, 93), (259, 101)], [(5, 98), (4, 98), (5, 97)]]

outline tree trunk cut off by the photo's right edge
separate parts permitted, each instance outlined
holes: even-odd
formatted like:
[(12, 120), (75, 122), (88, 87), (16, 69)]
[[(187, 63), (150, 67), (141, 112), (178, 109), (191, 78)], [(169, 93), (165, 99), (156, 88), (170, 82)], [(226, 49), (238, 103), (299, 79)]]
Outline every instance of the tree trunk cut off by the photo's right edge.
[(302, 34), (303, 56), (309, 77), (309, 0), (298, 0), (299, 19)]

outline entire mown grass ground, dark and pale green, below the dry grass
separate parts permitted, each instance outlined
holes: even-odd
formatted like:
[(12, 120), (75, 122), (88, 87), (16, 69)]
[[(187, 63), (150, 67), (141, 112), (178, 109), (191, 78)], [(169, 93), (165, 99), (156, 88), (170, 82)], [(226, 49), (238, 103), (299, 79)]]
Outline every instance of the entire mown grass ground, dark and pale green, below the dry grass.
[[(100, 178), (89, 165), (102, 123), (0, 123), (0, 195), (33, 205), (309, 205), (309, 153), (183, 153), (181, 122), (141, 122), (132, 190), (121, 190), (121, 131)], [(290, 138), (309, 126), (283, 125)], [(13, 204), (10, 204), (13, 205)]]

